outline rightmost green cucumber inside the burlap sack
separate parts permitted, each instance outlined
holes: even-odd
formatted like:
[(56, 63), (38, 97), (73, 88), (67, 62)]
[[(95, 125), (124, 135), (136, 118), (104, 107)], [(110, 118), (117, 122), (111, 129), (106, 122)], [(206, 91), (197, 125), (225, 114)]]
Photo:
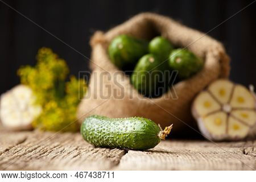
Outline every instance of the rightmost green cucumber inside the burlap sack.
[[(177, 63), (179, 59), (179, 63)], [(204, 61), (187, 49), (175, 49), (169, 57), (169, 66), (172, 70), (178, 71), (181, 79), (189, 78), (199, 72), (204, 65)]]

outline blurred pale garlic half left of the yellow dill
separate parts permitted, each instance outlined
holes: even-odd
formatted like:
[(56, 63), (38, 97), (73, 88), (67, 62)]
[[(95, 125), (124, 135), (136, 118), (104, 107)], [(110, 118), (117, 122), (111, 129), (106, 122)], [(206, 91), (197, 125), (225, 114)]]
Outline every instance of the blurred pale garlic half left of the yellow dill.
[(0, 98), (0, 120), (9, 130), (30, 130), (32, 121), (42, 112), (36, 97), (26, 85), (17, 85)]

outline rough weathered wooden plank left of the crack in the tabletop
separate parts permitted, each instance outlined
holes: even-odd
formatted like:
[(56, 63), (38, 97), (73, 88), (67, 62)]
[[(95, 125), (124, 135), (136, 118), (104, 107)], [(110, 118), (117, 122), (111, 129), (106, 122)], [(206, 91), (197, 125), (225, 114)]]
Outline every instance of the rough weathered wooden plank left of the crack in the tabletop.
[[(18, 133), (17, 133), (18, 134)], [(8, 140), (11, 135), (1, 133), (0, 138)], [(112, 169), (119, 163), (125, 151), (108, 148), (94, 148), (86, 143), (79, 133), (31, 132), (22, 143), (16, 142), (0, 155), (0, 169), (6, 170), (75, 170)]]

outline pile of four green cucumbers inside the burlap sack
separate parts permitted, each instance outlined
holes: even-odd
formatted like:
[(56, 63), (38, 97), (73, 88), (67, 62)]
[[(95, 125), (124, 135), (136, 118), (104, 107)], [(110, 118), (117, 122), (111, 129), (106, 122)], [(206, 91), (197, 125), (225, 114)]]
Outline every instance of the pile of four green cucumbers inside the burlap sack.
[[(131, 84), (146, 97), (159, 97), (170, 87), (171, 72), (180, 80), (203, 68), (204, 61), (187, 49), (174, 49), (169, 40), (157, 36), (149, 43), (128, 35), (119, 35), (108, 48), (112, 63), (126, 71), (133, 69)], [(130, 71), (130, 70), (129, 70)]]

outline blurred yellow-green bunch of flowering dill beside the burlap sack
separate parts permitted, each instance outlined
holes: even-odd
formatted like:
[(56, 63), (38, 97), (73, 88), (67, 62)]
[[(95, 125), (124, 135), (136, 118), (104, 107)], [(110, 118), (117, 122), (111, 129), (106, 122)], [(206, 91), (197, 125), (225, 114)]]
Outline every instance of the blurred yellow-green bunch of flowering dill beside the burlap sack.
[(18, 70), (21, 82), (30, 86), (36, 104), (42, 106), (42, 113), (32, 126), (48, 131), (77, 131), (76, 110), (86, 92), (86, 82), (75, 76), (65, 82), (68, 65), (49, 48), (39, 49), (36, 59), (35, 67)]

